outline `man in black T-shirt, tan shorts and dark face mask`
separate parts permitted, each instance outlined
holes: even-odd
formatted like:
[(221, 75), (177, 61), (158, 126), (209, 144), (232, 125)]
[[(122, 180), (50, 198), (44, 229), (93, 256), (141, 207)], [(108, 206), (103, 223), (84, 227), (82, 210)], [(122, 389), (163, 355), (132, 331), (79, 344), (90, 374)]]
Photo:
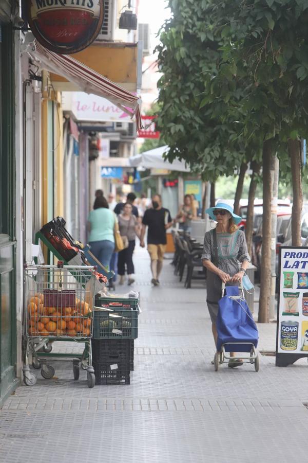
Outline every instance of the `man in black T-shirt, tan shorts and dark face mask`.
[(151, 283), (158, 286), (167, 244), (166, 229), (172, 225), (172, 219), (169, 210), (162, 207), (160, 194), (152, 197), (152, 206), (152, 209), (145, 211), (142, 219), (140, 245), (144, 247), (145, 229), (148, 226), (147, 250), (151, 258)]

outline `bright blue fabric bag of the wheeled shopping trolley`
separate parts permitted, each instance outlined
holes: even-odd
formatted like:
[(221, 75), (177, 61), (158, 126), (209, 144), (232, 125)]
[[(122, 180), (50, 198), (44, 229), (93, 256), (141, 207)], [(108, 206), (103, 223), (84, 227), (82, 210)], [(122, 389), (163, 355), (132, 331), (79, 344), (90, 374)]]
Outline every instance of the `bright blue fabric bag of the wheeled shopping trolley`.
[(238, 286), (227, 286), (225, 296), (218, 301), (218, 316), (216, 328), (218, 333), (217, 351), (220, 351), (222, 344), (226, 352), (249, 352), (252, 346), (258, 345), (259, 333), (253, 316), (246, 300), (240, 296)]

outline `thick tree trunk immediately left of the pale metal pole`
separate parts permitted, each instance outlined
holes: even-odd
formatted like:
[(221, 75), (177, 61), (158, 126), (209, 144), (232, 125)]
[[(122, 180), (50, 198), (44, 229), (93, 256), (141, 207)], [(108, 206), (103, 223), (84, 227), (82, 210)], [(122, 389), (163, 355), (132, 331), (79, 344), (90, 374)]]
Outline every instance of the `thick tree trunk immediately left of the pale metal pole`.
[(271, 166), (273, 160), (273, 139), (264, 141), (262, 155), (263, 175), (263, 222), (262, 222), (262, 260), (261, 288), (259, 300), (259, 323), (269, 322), (269, 304), (271, 302), (271, 234), (272, 234), (272, 189)]

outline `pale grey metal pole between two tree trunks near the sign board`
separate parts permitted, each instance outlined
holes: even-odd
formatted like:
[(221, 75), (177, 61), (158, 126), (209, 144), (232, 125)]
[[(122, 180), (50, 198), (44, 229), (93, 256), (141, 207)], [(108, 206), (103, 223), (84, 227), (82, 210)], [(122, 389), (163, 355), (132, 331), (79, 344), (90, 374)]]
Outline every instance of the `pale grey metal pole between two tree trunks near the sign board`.
[(276, 293), (276, 238), (277, 238), (277, 203), (278, 203), (278, 184), (279, 184), (279, 159), (276, 156), (273, 159), (271, 166), (271, 174), (273, 178), (272, 192), (272, 239), (271, 239), (271, 304), (269, 306), (269, 319), (274, 319), (275, 314), (275, 293)]

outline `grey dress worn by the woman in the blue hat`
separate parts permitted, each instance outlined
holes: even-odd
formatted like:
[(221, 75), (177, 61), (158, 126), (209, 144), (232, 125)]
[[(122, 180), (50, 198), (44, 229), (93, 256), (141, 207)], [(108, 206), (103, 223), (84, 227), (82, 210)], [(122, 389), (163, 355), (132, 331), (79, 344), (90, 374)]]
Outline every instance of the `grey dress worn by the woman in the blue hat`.
[[(239, 263), (244, 260), (250, 262), (251, 259), (247, 250), (245, 234), (241, 230), (234, 233), (217, 233), (218, 247), (218, 268), (230, 276), (238, 273)], [(207, 231), (204, 235), (202, 260), (215, 259), (214, 235), (213, 230)], [(222, 280), (213, 272), (207, 270), (206, 277), (206, 302), (211, 321), (216, 323), (218, 314), (218, 301), (221, 298)], [(235, 285), (236, 283), (228, 283)]]

